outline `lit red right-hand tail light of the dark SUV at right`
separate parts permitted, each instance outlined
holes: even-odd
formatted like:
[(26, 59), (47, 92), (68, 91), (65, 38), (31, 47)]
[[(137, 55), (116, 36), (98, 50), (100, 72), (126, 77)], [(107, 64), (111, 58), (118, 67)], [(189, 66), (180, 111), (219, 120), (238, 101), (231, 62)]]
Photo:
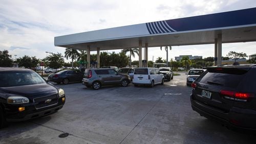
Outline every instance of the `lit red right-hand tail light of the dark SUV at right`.
[(230, 91), (230, 90), (221, 90), (220, 93), (223, 94), (224, 98), (226, 99), (243, 101), (243, 102), (246, 102), (248, 98), (253, 96), (253, 94), (251, 93), (236, 92), (236, 91)]

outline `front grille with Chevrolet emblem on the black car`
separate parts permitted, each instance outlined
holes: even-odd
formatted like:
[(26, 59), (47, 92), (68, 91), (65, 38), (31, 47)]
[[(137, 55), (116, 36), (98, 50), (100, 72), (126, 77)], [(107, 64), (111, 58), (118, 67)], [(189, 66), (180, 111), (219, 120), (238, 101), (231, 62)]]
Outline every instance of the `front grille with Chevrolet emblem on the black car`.
[(58, 104), (58, 95), (52, 94), (52, 95), (49, 95), (46, 97), (35, 98), (33, 101), (35, 103), (35, 108), (41, 109), (41, 108), (57, 105)]

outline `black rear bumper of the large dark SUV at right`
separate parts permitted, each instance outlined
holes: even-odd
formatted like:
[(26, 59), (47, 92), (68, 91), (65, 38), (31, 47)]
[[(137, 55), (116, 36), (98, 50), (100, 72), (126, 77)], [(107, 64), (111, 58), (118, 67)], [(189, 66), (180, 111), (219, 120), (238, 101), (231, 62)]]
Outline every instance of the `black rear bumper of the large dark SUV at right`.
[(232, 107), (229, 112), (210, 107), (190, 96), (191, 107), (194, 111), (200, 115), (213, 119), (228, 128), (239, 130), (256, 130), (256, 111), (250, 109), (242, 109), (238, 107)]

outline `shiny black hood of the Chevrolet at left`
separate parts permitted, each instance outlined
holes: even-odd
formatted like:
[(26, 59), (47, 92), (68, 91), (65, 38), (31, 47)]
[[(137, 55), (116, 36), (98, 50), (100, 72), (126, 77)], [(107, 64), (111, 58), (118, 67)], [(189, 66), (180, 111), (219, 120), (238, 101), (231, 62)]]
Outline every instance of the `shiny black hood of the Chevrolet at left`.
[(34, 85), (24, 85), (24, 86), (15, 86), (15, 87), (1, 87), (0, 92), (3, 91), (6, 93), (6, 96), (9, 97), (9, 94), (23, 95), (26, 97), (32, 97), (33, 95), (41, 95), (46, 93), (57, 93), (58, 90), (56, 87), (50, 84), (34, 84)]

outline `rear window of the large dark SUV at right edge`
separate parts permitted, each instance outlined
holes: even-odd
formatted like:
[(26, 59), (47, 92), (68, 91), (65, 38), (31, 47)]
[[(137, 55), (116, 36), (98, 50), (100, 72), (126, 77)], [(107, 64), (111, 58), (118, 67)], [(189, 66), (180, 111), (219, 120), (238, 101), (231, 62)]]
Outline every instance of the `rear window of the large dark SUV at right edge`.
[(199, 77), (200, 83), (236, 88), (248, 70), (237, 68), (211, 68)]

